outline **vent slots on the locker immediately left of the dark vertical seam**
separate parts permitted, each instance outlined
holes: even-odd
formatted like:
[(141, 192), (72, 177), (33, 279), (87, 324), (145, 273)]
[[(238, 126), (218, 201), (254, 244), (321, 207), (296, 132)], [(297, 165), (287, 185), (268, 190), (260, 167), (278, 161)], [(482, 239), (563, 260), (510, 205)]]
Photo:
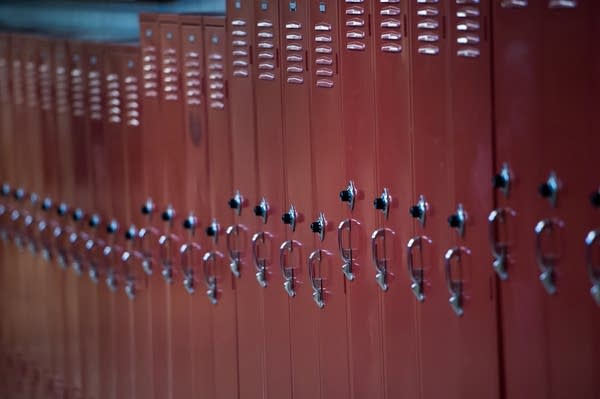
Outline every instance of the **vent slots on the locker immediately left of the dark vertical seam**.
[(456, 55), (465, 58), (479, 57), (481, 41), (481, 12), (479, 2), (456, 0)]

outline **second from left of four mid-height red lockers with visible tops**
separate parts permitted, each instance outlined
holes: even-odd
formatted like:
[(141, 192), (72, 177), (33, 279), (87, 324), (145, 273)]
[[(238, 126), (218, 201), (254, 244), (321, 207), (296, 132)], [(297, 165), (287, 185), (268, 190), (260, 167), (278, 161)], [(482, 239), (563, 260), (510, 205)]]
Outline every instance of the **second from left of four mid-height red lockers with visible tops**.
[[(192, 391), (192, 358), (190, 298), (181, 281), (177, 251), (182, 242), (183, 224), (179, 213), (185, 212), (186, 132), (183, 123), (184, 97), (181, 84), (181, 31), (177, 15), (161, 14), (160, 40), (162, 63), (162, 150), (165, 169), (162, 218), (165, 231), (161, 237), (159, 261), (167, 283), (167, 331), (169, 335), (169, 395), (173, 398), (187, 397)], [(172, 154), (181, 154), (175, 158)], [(179, 216), (178, 216), (179, 215)]]

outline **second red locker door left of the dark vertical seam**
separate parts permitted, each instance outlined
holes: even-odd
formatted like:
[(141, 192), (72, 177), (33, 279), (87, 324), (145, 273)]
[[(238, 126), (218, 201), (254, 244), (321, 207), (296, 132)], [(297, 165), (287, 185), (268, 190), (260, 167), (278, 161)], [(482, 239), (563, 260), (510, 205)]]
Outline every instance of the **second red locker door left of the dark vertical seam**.
[(444, 251), (455, 241), (446, 220), (455, 206), (448, 182), (452, 163), (447, 154), (452, 138), (447, 128), (450, 92), (445, 76), (451, 55), (443, 32), (447, 4), (414, 1), (408, 27), (414, 129), (411, 216), (417, 220), (415, 236), (407, 243), (412, 257), (407, 265), (410, 281), (405, 289), (413, 291), (417, 303), (417, 350), (424, 398), (460, 392), (459, 380), (453, 373), (455, 367), (448, 366), (450, 359), (461, 359), (459, 348), (440, 339), (445, 326), (460, 321), (448, 305), (442, 264)]

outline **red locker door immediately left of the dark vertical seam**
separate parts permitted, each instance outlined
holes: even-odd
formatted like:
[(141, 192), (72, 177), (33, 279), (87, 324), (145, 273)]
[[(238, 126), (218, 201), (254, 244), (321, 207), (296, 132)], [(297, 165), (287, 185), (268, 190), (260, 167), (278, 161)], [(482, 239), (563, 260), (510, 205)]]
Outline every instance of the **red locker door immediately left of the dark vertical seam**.
[[(496, 279), (493, 270), (480, 267), (489, 259), (485, 217), (493, 204), (489, 18), (486, 2), (453, 1), (448, 7), (446, 76), (452, 86), (447, 127), (453, 173), (448, 205), (453, 209), (448, 210), (445, 232), (450, 244), (439, 262), (444, 267), (447, 300), (460, 315), (444, 328), (447, 343), (462, 356), (452, 376), (459, 384), (456, 397), (500, 396)], [(466, 155), (473, 153), (477, 156)], [(447, 365), (452, 364), (457, 365), (456, 359), (448, 359)]]

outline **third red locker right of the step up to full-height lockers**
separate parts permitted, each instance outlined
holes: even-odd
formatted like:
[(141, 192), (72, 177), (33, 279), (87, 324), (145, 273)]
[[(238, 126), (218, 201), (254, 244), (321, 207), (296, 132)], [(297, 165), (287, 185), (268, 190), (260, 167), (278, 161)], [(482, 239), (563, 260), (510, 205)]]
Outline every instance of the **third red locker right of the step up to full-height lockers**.
[[(292, 396), (320, 396), (318, 313), (312, 299), (308, 257), (315, 245), (313, 173), (310, 130), (308, 0), (280, 3), (283, 159), (285, 208), (282, 222), (287, 240), (281, 243), (280, 267), (289, 296)], [(285, 46), (285, 47), (284, 47)], [(281, 283), (280, 283), (281, 284)], [(279, 285), (279, 284), (278, 284)]]

